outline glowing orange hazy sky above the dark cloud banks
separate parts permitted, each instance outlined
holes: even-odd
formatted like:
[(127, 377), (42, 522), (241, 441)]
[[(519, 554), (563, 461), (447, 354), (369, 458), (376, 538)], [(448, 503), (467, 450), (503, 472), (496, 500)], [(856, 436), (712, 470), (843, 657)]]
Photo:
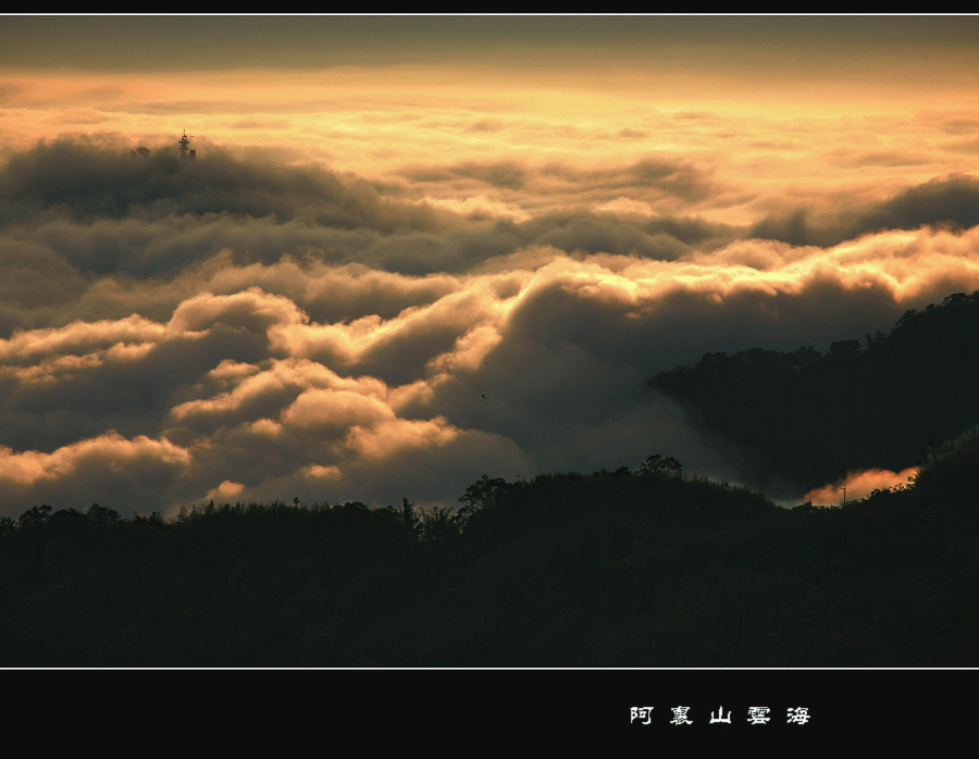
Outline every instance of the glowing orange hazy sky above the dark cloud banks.
[[(979, 161), (979, 46), (963, 32), (975, 17), (572, 16), (548, 28), (537, 17), (481, 27), (412, 16), (398, 35), (397, 17), (376, 20), (372, 34), (369, 18), (314, 16), (306, 24), (320, 27), (321, 47), (337, 48), (322, 63), (318, 36), (284, 17), (8, 21), (12, 50), (0, 63), (8, 150), (63, 133), (159, 145), (186, 128), (201, 150), (322, 161), (402, 184), (406, 169), (433, 162), (592, 171), (676, 157), (695, 162), (716, 189), (684, 210), (730, 223), (803, 199), (816, 209), (881, 199), (935, 175), (975, 172)], [(222, 24), (227, 39), (212, 43)], [(636, 26), (656, 43), (643, 45)], [(296, 50), (286, 54), (290, 35)], [(157, 54), (137, 55), (133, 39)], [(431, 51), (418, 51), (414, 39)], [(100, 48), (113, 43), (121, 52), (107, 62)], [(65, 52), (73, 45), (79, 49)], [(518, 216), (618, 200), (611, 191), (583, 199), (555, 189), (436, 182), (409, 192)]]

